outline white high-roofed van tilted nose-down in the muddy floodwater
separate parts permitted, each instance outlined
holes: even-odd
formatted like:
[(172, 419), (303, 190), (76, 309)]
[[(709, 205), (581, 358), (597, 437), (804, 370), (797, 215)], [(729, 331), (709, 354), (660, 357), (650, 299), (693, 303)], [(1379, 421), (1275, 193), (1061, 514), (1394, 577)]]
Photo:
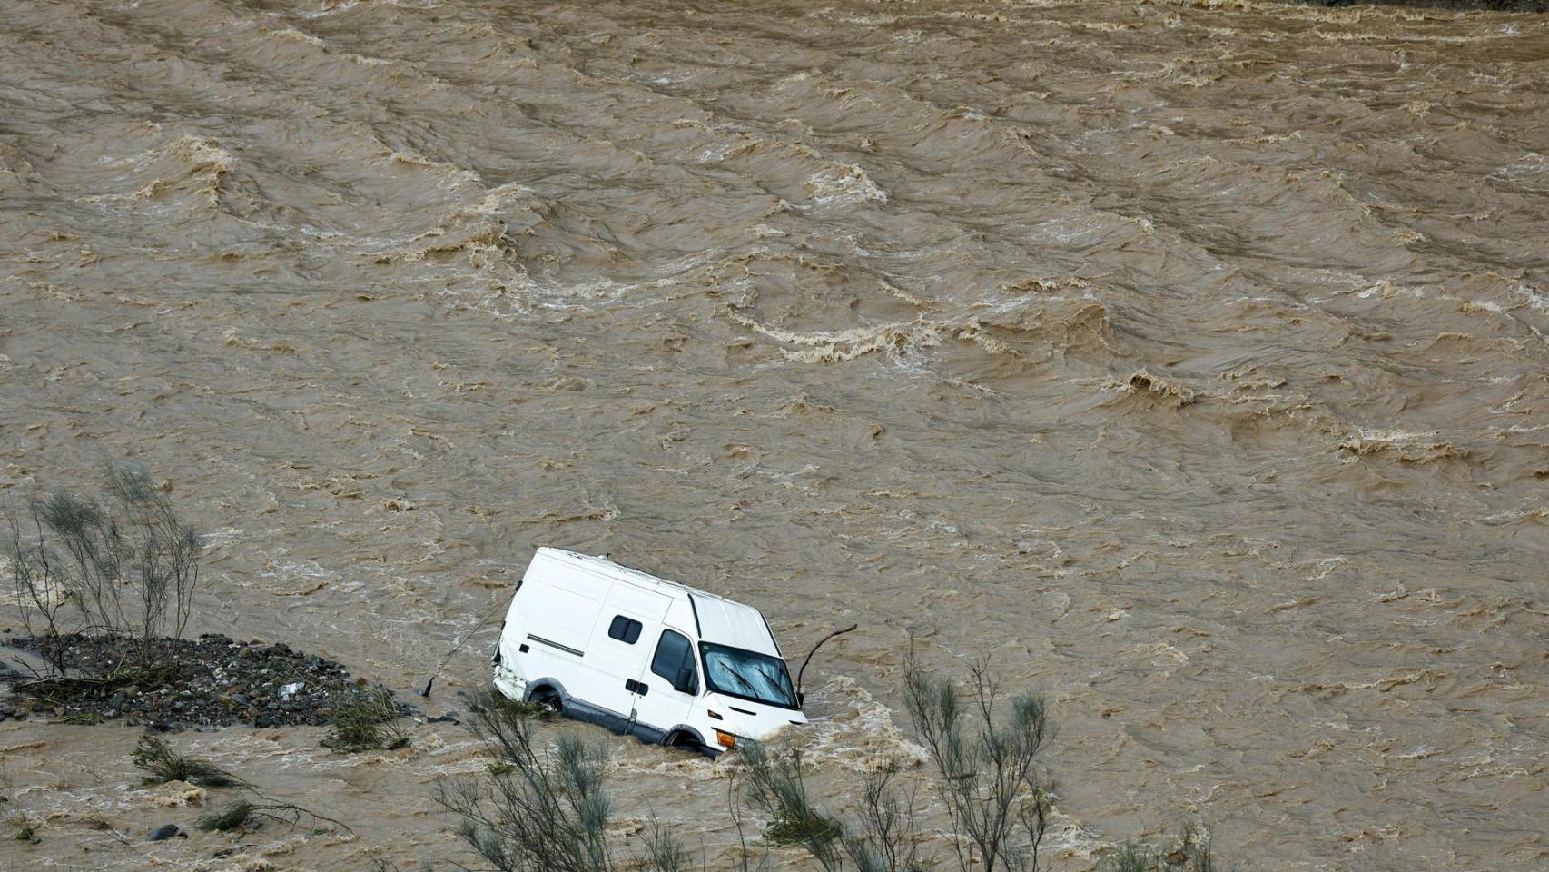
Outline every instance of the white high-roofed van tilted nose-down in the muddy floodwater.
[(807, 722), (757, 609), (559, 548), (533, 554), (491, 663), (510, 699), (711, 756)]

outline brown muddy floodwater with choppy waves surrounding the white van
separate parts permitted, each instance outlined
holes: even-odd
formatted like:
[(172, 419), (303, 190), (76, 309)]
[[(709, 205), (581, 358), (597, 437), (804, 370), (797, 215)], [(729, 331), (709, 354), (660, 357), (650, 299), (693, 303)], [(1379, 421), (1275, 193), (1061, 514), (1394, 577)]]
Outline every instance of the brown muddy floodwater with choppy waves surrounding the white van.
[[(1056, 869), (1191, 815), (1252, 869), (1543, 869), (1546, 144), (1532, 15), (8, 0), (0, 486), (146, 462), (198, 630), (406, 699), (542, 544), (795, 657), (860, 623), (807, 675), (835, 805), (917, 757), (911, 635), (988, 655), (1053, 703)], [(482, 767), (181, 734), (356, 832), (217, 860), (138, 841), (200, 810), (133, 739), (0, 726), (46, 818), (0, 866), (415, 867)], [(723, 858), (722, 767), (612, 742), (621, 835)]]

